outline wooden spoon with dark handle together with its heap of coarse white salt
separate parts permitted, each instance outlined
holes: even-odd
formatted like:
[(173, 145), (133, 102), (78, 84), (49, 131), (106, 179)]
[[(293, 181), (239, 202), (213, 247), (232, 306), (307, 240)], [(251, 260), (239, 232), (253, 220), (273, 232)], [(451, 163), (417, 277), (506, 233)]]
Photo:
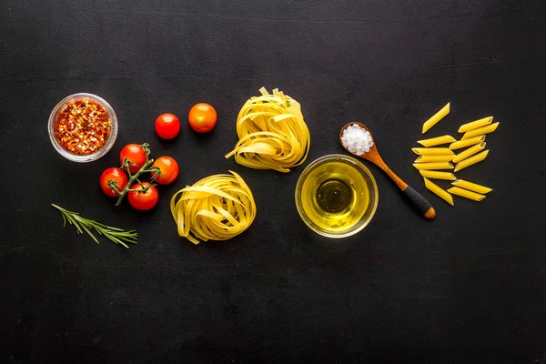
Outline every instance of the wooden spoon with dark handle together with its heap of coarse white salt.
[[(361, 144), (351, 143), (354, 141), (354, 137), (350, 137), (347, 135), (345, 136), (345, 139), (343, 139), (344, 132), (349, 128), (349, 126), (352, 126), (349, 130), (362, 128), (367, 131), (369, 133), (369, 140), (367, 140), (369, 142), (368, 145), (364, 144), (365, 147), (361, 147)], [(394, 172), (392, 172), (390, 168), (385, 164), (385, 162), (383, 162), (383, 159), (379, 156), (378, 148), (373, 141), (373, 136), (371, 136), (371, 132), (369, 131), (368, 127), (357, 122), (349, 123), (346, 126), (343, 126), (341, 128), (341, 131), (339, 132), (339, 142), (341, 143), (341, 146), (350, 154), (369, 160), (377, 167), (383, 169), (383, 171), (387, 173), (387, 175), (394, 181), (394, 183), (396, 183), (396, 185), (402, 190), (402, 192), (406, 194), (406, 196), (410, 199), (411, 203), (420, 210), (424, 217), (429, 219), (436, 217), (436, 211), (434, 210), (434, 207), (430, 205), (429, 201), (427, 201), (425, 197), (422, 197), (420, 193), (417, 192), (415, 189), (408, 186), (406, 182), (402, 181), (400, 177), (395, 175)], [(371, 146), (369, 146), (369, 144), (371, 144)]]

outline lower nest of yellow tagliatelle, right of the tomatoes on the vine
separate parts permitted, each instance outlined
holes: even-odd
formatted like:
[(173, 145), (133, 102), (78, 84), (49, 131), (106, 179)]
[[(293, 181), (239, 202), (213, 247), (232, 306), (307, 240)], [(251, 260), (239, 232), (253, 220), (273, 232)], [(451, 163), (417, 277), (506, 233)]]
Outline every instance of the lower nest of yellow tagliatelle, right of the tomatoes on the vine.
[(180, 237), (194, 244), (199, 244), (199, 239), (227, 240), (252, 224), (256, 217), (252, 192), (243, 178), (231, 174), (203, 178), (171, 198), (170, 209)]

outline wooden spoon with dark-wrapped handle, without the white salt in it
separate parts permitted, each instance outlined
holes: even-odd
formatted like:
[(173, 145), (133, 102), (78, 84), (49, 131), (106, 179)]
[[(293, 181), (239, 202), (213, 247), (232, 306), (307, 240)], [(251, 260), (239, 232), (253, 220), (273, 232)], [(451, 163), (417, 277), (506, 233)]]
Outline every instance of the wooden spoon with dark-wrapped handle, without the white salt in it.
[(369, 160), (371, 163), (373, 163), (377, 167), (383, 169), (385, 173), (387, 173), (387, 175), (394, 181), (394, 183), (396, 183), (396, 185), (402, 190), (402, 192), (410, 199), (411, 203), (420, 210), (420, 212), (423, 214), (424, 217), (427, 217), (429, 219), (436, 217), (436, 211), (434, 210), (434, 207), (430, 205), (429, 201), (427, 201), (425, 197), (420, 196), (419, 192), (417, 192), (415, 189), (408, 186), (406, 182), (402, 181), (400, 177), (395, 175), (394, 172), (391, 171), (390, 168), (385, 164), (385, 162), (383, 162), (383, 159), (381, 159), (381, 157), (379, 156), (376, 143), (375, 141), (373, 141), (373, 136), (371, 136), (371, 140), (373, 141), (373, 146), (369, 148), (368, 153), (363, 153), (361, 155), (358, 155), (356, 153), (351, 152), (347, 147), (343, 145), (343, 142), (341, 141), (341, 136), (343, 136), (343, 132), (349, 126), (354, 126), (354, 125), (363, 127), (369, 132), (369, 136), (371, 136), (371, 132), (369, 131), (369, 128), (364, 126), (363, 124), (360, 124), (357, 122), (349, 123), (348, 125), (343, 126), (341, 128), (341, 131), (339, 132), (339, 143), (341, 143), (341, 147), (347, 150), (350, 154)]

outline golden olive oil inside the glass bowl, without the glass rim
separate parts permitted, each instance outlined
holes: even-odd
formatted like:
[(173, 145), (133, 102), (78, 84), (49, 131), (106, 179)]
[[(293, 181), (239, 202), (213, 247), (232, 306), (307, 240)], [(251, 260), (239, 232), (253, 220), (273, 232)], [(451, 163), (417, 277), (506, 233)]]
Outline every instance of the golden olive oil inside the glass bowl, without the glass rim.
[(320, 230), (343, 233), (359, 223), (368, 210), (368, 181), (350, 161), (322, 163), (311, 170), (303, 182), (301, 206)]

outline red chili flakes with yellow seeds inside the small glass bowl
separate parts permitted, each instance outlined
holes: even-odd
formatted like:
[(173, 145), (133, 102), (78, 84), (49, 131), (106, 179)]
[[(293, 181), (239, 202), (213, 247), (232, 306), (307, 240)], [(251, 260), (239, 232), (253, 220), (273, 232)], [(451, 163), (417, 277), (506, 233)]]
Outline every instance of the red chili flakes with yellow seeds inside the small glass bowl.
[(86, 156), (105, 146), (112, 120), (105, 106), (87, 98), (71, 101), (57, 115), (55, 134), (61, 147)]

